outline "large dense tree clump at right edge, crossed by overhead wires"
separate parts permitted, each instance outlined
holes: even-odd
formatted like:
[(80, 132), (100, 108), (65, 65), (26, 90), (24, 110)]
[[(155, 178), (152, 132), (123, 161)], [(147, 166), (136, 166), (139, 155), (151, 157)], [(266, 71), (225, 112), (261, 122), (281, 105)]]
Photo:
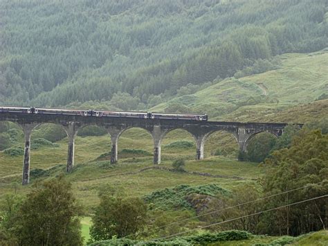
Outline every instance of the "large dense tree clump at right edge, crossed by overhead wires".
[[(280, 193), (313, 184), (288, 195), (267, 200), (263, 209), (307, 200), (328, 193), (327, 182), (315, 184), (328, 177), (328, 135), (320, 130), (302, 129), (293, 138), (291, 148), (273, 152), (265, 165), (271, 170), (264, 178), (265, 195)], [(262, 217), (262, 233), (298, 236), (327, 228), (327, 198), (297, 204)], [(269, 229), (270, 228), (270, 229)]]

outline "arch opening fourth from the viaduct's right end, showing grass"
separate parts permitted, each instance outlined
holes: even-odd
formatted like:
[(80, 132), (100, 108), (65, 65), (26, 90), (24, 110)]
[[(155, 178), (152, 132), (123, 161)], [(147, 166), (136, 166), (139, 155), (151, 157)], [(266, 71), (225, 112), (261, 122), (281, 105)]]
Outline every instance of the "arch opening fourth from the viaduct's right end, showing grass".
[(118, 135), (118, 159), (123, 162), (152, 159), (154, 140), (144, 128), (127, 128)]

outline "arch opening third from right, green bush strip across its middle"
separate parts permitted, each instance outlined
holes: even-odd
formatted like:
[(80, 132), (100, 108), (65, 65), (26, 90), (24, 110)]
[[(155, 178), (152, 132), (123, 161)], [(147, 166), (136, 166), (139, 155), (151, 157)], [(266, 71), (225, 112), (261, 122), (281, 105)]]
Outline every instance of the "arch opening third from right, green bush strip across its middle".
[(161, 141), (162, 159), (195, 159), (196, 141), (193, 135), (184, 129), (170, 130)]

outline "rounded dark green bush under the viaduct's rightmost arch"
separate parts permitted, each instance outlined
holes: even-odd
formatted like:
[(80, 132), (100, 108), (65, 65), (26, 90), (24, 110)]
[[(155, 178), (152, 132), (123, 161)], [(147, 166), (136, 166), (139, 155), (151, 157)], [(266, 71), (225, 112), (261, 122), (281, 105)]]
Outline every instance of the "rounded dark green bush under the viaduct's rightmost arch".
[(268, 157), (273, 146), (275, 146), (276, 138), (270, 133), (257, 134), (250, 139), (247, 146), (247, 158), (249, 161), (261, 162)]

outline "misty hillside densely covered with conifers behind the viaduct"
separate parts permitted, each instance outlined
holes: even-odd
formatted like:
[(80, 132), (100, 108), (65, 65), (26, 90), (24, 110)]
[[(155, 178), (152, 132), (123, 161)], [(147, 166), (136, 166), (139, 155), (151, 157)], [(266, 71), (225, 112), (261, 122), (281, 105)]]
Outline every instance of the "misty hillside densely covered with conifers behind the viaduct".
[(324, 0), (0, 0), (0, 104), (147, 109), (327, 36)]

